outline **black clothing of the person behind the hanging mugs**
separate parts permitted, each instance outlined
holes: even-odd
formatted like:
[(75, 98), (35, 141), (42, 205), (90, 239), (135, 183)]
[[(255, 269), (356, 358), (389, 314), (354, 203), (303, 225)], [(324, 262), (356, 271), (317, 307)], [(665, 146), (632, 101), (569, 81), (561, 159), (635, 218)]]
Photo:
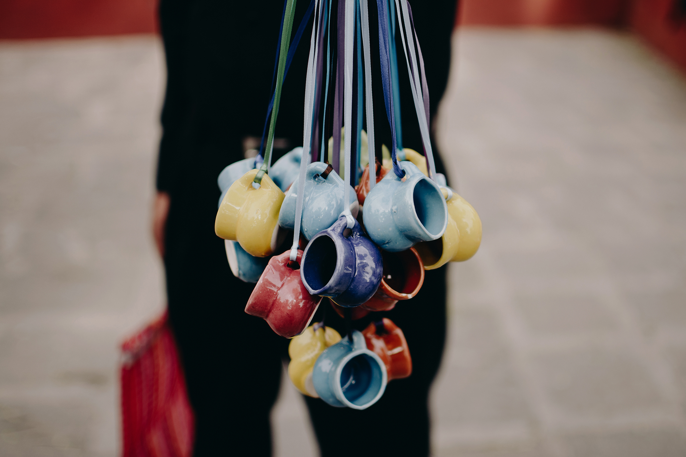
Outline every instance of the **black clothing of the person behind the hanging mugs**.
[[(414, 3), (435, 112), (447, 83), (455, 2)], [(307, 2), (300, 0), (294, 27), (306, 9)], [(282, 10), (281, 1), (162, 0), (160, 6), (168, 75), (157, 187), (171, 194), (165, 241), (169, 317), (196, 412), (196, 456), (268, 456), (272, 449), (269, 414), (288, 340), (244, 312), (254, 285), (231, 274), (224, 241), (214, 234), (214, 219), (218, 173), (242, 158), (245, 136), (262, 133)], [(376, 24), (370, 2), (377, 144), (390, 145)], [(400, 42), (398, 50), (404, 145), (421, 151)], [(276, 136), (291, 145), (302, 144), (308, 51), (305, 32), (283, 86), (276, 128)], [(438, 171), (443, 171), (434, 151)], [(319, 314), (324, 306), (328, 304)], [(381, 400), (364, 411), (308, 398), (324, 456), (349, 455), (351, 450), (357, 455), (428, 454), (427, 395), (445, 341), (445, 268), (427, 271), (414, 299), (374, 317), (381, 315), (405, 332), (414, 372), (390, 382)], [(371, 318), (355, 327), (364, 328)], [(344, 330), (333, 312), (327, 313), (327, 323)]]

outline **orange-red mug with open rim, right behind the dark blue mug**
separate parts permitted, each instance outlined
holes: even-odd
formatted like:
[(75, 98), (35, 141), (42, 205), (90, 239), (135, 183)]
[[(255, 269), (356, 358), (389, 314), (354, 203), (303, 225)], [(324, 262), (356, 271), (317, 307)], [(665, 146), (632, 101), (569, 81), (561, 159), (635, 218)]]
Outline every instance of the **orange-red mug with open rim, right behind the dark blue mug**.
[(417, 295), (424, 284), (424, 264), (414, 248), (400, 252), (381, 251), (383, 277), (376, 293), (360, 308), (388, 311), (399, 300)]

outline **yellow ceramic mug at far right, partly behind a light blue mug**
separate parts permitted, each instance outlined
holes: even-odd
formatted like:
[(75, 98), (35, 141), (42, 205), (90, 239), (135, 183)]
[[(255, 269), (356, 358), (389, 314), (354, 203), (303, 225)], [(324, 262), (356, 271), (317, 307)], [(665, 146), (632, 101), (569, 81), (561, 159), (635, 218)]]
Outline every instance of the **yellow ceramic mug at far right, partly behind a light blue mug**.
[(448, 225), (438, 240), (415, 245), (424, 262), (424, 268), (433, 270), (447, 262), (462, 262), (474, 256), (481, 245), (481, 219), (474, 207), (450, 188), (442, 188), (450, 197)]

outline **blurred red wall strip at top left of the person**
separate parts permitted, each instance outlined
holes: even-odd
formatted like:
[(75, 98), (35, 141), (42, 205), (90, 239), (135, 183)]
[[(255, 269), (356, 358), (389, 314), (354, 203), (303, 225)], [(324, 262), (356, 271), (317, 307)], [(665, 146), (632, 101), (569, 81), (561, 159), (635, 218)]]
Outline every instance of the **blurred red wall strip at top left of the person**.
[(152, 33), (156, 5), (157, 0), (0, 0), (0, 38)]

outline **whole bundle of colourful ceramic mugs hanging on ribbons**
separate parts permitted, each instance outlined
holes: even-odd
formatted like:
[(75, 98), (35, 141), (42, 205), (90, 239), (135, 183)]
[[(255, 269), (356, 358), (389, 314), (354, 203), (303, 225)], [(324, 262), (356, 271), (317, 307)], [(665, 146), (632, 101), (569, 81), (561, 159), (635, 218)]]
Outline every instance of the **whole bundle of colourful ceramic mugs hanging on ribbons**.
[[(353, 330), (351, 320), (414, 297), (425, 270), (471, 258), (482, 229), (474, 208), (436, 173), (424, 62), (407, 0), (377, 0), (392, 136), (390, 151), (381, 147), (382, 160), (375, 150), (367, 0), (338, 0), (336, 11), (332, 6), (311, 0), (291, 40), (295, 0), (286, 0), (268, 134), (257, 157), (220, 173), (215, 232), (225, 240), (233, 274), (257, 282), (246, 312), (292, 338), (288, 373), (296, 388), (332, 406), (364, 409), (379, 400), (387, 382), (410, 375), (412, 359), (403, 331), (390, 319), (372, 320), (363, 332)], [(313, 14), (303, 147), (272, 166), (281, 86)], [(401, 145), (396, 17), (423, 155)], [(328, 139), (327, 114), (333, 118)], [(292, 247), (279, 253), (289, 231)], [(345, 336), (324, 322), (310, 325), (323, 297), (346, 318)]]

